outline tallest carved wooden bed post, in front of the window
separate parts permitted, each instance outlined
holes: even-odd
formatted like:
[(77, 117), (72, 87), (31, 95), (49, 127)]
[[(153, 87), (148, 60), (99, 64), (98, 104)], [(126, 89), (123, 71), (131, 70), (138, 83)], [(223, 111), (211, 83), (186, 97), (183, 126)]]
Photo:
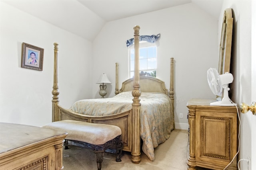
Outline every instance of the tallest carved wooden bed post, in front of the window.
[(134, 29), (134, 82), (132, 96), (132, 162), (140, 163), (140, 63), (139, 63), (139, 37), (140, 26), (136, 25)]

